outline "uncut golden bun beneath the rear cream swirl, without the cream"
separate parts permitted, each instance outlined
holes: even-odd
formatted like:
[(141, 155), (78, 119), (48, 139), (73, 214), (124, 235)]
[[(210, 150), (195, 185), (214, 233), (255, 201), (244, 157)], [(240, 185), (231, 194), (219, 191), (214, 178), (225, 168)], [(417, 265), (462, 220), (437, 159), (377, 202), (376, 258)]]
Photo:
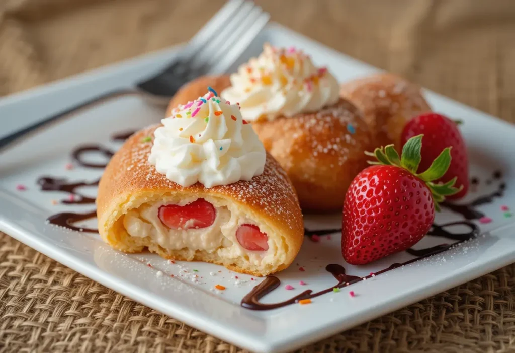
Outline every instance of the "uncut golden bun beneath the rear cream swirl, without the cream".
[(316, 113), (258, 121), (252, 126), (288, 173), (303, 211), (343, 207), (347, 188), (367, 166), (364, 151), (371, 146), (368, 126), (352, 104), (340, 99)]

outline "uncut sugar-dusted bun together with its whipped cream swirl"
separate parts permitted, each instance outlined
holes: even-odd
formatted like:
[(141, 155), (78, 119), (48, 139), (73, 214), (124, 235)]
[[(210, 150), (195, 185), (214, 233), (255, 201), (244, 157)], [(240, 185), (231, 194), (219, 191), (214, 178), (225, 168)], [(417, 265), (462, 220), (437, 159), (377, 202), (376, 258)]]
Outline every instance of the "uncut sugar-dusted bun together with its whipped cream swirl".
[(293, 182), (304, 211), (341, 210), (352, 179), (367, 164), (367, 124), (339, 97), (336, 78), (302, 51), (264, 46), (231, 75), (221, 96), (245, 120)]

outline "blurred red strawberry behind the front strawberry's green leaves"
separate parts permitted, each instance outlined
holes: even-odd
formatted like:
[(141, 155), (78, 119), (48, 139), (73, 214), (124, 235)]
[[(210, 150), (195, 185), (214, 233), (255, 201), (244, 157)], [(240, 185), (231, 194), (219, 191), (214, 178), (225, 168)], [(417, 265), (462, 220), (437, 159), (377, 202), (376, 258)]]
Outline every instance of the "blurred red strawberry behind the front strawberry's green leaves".
[(424, 134), (422, 139), (422, 161), (418, 171), (425, 171), (431, 161), (435, 159), (441, 150), (451, 146), (451, 157), (453, 163), (437, 181), (448, 181), (456, 177), (456, 186), (463, 188), (460, 192), (450, 195), (450, 199), (464, 197), (469, 190), (469, 160), (467, 156), (467, 146), (461, 137), (456, 122), (436, 113), (426, 113), (410, 120), (402, 131), (402, 145), (410, 138)]

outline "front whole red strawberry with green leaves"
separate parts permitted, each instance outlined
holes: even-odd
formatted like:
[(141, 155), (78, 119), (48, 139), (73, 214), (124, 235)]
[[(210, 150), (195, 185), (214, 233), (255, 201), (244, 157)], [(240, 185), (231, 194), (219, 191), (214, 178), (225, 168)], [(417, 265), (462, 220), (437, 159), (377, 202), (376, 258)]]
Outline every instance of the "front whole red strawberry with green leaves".
[(432, 182), (449, 168), (450, 148), (416, 174), (421, 148), (422, 135), (404, 144), (402, 157), (393, 144), (367, 153), (379, 162), (369, 162), (376, 165), (354, 178), (345, 197), (341, 252), (348, 263), (363, 265), (413, 246), (433, 224), (438, 202), (459, 191), (455, 179)]

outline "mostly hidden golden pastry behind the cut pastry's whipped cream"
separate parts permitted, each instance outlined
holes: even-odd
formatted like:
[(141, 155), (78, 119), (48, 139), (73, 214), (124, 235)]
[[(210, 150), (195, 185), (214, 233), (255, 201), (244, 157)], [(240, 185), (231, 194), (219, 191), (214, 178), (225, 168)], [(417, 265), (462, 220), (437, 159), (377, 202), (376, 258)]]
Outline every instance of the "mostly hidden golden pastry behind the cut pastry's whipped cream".
[(174, 94), (168, 104), (168, 109), (166, 109), (166, 116), (170, 116), (171, 111), (180, 104), (186, 104), (204, 95), (208, 87), (213, 88), (216, 92), (221, 92), (229, 86), (231, 86), (229, 75), (200, 76), (183, 85), (179, 91)]

